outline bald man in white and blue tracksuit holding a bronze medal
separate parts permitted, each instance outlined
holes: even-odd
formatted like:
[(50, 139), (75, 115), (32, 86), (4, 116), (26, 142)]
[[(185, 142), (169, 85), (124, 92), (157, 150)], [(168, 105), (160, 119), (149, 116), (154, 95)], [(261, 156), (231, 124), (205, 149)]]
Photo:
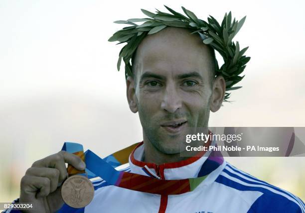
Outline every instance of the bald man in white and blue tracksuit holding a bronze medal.
[[(126, 79), (129, 107), (139, 112), (143, 127), (143, 142), (131, 153), (126, 171), (152, 179), (190, 179), (197, 183), (191, 189), (184, 192), (186, 187), (169, 181), (166, 186), (141, 183), (130, 190), (99, 179), (93, 182), (93, 201), (84, 209), (72, 209), (60, 194), (59, 185), (67, 177), (65, 163), (78, 170), (85, 164), (61, 151), (34, 162), (26, 171), (17, 202), (30, 202), (39, 213), (304, 212), (301, 199), (222, 158), (213, 161), (204, 151), (193, 157), (181, 155), (184, 135), (191, 127), (207, 127), (210, 111), (216, 112), (225, 98), (226, 81), (221, 75), (215, 78), (214, 57), (198, 34), (163, 27), (141, 41), (133, 56), (132, 75)], [(170, 193), (154, 193), (165, 187)]]

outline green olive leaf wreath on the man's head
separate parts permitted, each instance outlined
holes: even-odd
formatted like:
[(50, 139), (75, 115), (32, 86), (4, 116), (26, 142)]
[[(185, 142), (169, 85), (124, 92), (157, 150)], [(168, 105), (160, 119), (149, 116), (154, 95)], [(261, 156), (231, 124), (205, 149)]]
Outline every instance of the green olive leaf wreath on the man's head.
[[(119, 41), (118, 44), (127, 43), (120, 51), (117, 69), (120, 70), (121, 61), (125, 62), (125, 75), (126, 77), (132, 76), (131, 59), (141, 41), (149, 34), (156, 33), (166, 26), (183, 27), (190, 29), (193, 33), (198, 33), (204, 44), (210, 45), (215, 49), (223, 58), (224, 64), (219, 68), (218, 62), (215, 62), (215, 77), (223, 76), (226, 81), (226, 91), (237, 90), (241, 87), (233, 87), (240, 82), (244, 76), (239, 76), (245, 69), (246, 64), (249, 62), (250, 57), (244, 55), (248, 47), (240, 50), (238, 41), (236, 44), (232, 41), (233, 37), (240, 30), (245, 22), (246, 16), (240, 21), (232, 21), (231, 11), (225, 16), (221, 25), (213, 16), (209, 16), (208, 22), (197, 18), (197, 16), (185, 9), (182, 10), (185, 15), (174, 11), (168, 6), (164, 5), (171, 13), (161, 12), (152, 13), (148, 10), (141, 9), (142, 12), (149, 16), (149, 18), (132, 18), (126, 21), (119, 20), (114, 23), (129, 24), (131, 26), (124, 27), (123, 29), (115, 32), (108, 41)], [(134, 22), (143, 22), (138, 25)], [(230, 93), (225, 94), (224, 101), (227, 102)]]

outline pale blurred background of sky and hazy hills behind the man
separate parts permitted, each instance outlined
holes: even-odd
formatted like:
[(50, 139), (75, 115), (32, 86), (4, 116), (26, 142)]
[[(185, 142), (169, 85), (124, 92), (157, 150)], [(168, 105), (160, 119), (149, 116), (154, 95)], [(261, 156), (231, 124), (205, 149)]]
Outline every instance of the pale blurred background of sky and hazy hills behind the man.
[[(122, 46), (107, 40), (122, 27), (113, 21), (163, 4), (203, 20), (247, 15), (235, 38), (250, 46), (243, 88), (210, 126), (305, 126), (305, 1), (0, 0), (0, 202), (18, 198), (26, 169), (65, 141), (103, 157), (142, 140), (116, 70)], [(226, 159), (305, 200), (305, 157)]]

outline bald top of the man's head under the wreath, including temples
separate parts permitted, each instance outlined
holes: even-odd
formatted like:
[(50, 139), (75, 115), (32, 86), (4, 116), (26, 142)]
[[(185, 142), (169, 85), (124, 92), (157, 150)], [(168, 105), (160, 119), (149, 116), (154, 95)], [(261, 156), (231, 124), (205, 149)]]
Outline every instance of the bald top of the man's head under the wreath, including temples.
[(185, 28), (166, 27), (148, 35), (141, 42), (132, 60), (135, 79), (138, 69), (145, 68), (143, 66), (147, 63), (159, 64), (171, 71), (188, 71), (190, 67), (197, 71), (208, 71), (209, 81), (215, 76), (214, 50), (204, 44), (198, 34), (191, 34)]

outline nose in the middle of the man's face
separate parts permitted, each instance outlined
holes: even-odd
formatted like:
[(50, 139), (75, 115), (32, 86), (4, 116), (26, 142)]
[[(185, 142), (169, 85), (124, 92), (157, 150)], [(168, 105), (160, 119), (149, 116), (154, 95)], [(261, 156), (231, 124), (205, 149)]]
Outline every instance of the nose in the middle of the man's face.
[(161, 108), (167, 112), (173, 113), (181, 108), (181, 98), (174, 84), (168, 84), (164, 90)]

